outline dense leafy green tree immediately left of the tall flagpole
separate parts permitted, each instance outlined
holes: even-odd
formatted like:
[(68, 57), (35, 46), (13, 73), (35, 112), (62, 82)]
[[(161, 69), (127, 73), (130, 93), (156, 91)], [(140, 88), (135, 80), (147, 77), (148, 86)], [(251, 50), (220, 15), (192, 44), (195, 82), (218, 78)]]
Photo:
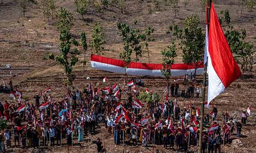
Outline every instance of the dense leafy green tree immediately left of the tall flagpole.
[(205, 35), (202, 29), (198, 27), (199, 23), (199, 16), (190, 15), (184, 21), (184, 30), (175, 25), (173, 32), (174, 37), (181, 40), (180, 45), (183, 52), (183, 62), (195, 67), (195, 75), (204, 57)]

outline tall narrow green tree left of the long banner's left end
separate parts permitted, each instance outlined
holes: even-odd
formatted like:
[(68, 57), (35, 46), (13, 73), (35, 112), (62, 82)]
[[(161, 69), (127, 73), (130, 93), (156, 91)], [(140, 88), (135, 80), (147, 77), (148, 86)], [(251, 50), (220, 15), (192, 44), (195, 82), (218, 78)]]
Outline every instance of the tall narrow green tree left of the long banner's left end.
[[(73, 84), (76, 75), (73, 73), (73, 66), (78, 62), (78, 49), (76, 48), (79, 43), (72, 37), (70, 33), (70, 29), (72, 26), (73, 15), (66, 10), (65, 8), (61, 8), (58, 13), (58, 28), (60, 30), (60, 45), (59, 51), (60, 54), (56, 56), (56, 61), (64, 67), (65, 74), (67, 76), (67, 80), (65, 80), (65, 84), (68, 86)], [(49, 55), (50, 59), (54, 59), (53, 54)]]

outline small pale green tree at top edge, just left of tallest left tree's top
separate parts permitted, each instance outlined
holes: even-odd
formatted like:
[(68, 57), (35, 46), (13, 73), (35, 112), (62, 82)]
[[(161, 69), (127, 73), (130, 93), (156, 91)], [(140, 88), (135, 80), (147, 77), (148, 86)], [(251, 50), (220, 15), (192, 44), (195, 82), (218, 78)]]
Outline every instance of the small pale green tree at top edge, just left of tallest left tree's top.
[(50, 18), (52, 17), (52, 20), (55, 16), (55, 0), (42, 0), (41, 1), (42, 6), (42, 13), (44, 14), (45, 19), (50, 22)]

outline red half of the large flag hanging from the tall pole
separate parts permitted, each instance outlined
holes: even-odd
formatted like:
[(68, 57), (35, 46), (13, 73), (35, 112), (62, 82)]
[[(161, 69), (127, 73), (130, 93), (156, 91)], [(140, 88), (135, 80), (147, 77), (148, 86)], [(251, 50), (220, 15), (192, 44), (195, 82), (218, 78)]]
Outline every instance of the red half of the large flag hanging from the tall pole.
[(212, 66), (225, 88), (241, 77), (241, 71), (232, 56), (213, 3), (210, 11), (209, 55)]

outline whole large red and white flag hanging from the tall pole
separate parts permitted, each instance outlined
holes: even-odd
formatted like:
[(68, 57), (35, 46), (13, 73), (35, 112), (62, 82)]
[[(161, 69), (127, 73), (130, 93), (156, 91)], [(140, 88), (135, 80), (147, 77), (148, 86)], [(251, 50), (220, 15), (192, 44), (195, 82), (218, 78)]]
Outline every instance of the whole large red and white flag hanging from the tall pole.
[(208, 57), (208, 104), (242, 75), (221, 29), (213, 3), (211, 3), (209, 23), (209, 32), (207, 36), (206, 29), (205, 41), (205, 61)]

